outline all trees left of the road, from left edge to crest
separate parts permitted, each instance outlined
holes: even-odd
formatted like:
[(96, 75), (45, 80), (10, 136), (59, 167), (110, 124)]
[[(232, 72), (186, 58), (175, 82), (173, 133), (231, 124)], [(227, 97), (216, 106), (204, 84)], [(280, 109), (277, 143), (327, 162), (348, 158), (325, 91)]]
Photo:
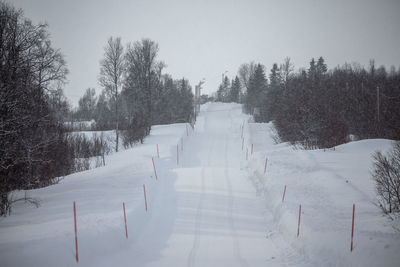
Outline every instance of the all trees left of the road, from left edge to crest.
[(120, 38), (110, 38), (100, 62), (103, 91), (96, 97), (88, 89), (72, 112), (62, 90), (67, 65), (47, 28), (0, 1), (0, 216), (19, 200), (12, 191), (53, 184), (85, 169), (89, 157), (105, 163), (109, 148), (102, 135), (89, 140), (69, 133), (65, 122), (72, 113), (94, 119), (99, 130), (116, 129), (116, 150), (120, 133), (131, 145), (143, 142), (153, 124), (193, 119), (189, 82), (162, 73), (158, 45), (149, 39), (124, 49)]

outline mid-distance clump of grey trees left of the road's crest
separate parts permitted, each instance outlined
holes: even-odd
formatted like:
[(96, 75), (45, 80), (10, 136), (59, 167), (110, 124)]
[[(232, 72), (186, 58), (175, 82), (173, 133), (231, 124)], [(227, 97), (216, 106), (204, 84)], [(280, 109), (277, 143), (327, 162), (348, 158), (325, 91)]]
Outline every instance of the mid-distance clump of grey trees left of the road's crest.
[(77, 120), (94, 120), (96, 130), (116, 129), (124, 146), (143, 142), (151, 125), (193, 120), (193, 93), (188, 80), (173, 79), (157, 60), (158, 44), (150, 39), (128, 44), (110, 37), (101, 60), (102, 91), (88, 88), (74, 114)]

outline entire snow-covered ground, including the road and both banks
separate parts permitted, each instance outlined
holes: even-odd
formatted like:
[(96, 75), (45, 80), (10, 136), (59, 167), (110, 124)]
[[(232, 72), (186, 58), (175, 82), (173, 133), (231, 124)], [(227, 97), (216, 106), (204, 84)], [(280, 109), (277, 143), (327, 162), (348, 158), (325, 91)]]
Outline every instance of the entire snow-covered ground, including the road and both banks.
[(75, 266), (73, 201), (82, 266), (400, 265), (400, 233), (376, 206), (369, 174), (371, 154), (390, 141), (294, 150), (274, 144), (270, 124), (249, 121), (240, 105), (205, 104), (188, 135), (186, 124), (155, 126), (143, 145), (109, 155), (105, 167), (28, 191), (41, 206), (19, 202), (0, 219), (0, 265)]

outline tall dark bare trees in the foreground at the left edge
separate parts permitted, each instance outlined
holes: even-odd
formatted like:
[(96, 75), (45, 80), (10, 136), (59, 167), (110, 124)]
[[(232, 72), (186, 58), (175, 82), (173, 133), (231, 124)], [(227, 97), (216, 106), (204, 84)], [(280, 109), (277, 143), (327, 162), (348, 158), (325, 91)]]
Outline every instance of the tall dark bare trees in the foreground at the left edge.
[(54, 97), (67, 73), (47, 25), (0, 1), (0, 215), (10, 192), (49, 185), (72, 166)]

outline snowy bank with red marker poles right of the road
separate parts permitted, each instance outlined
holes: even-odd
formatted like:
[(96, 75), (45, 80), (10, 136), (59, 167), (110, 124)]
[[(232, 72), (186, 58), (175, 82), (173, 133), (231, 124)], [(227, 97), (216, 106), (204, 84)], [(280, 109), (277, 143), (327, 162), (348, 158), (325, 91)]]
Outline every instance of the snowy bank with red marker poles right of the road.
[[(253, 143), (255, 150), (246, 167), (249, 177), (266, 199), (279, 227), (278, 234), (288, 243), (319, 266), (400, 265), (400, 232), (377, 206), (370, 175), (372, 154), (388, 150), (391, 141), (362, 140), (335, 150), (310, 151), (275, 145), (271, 141), (271, 124), (250, 123), (245, 132), (248, 146)], [(353, 203), (355, 235), (350, 253)]]

